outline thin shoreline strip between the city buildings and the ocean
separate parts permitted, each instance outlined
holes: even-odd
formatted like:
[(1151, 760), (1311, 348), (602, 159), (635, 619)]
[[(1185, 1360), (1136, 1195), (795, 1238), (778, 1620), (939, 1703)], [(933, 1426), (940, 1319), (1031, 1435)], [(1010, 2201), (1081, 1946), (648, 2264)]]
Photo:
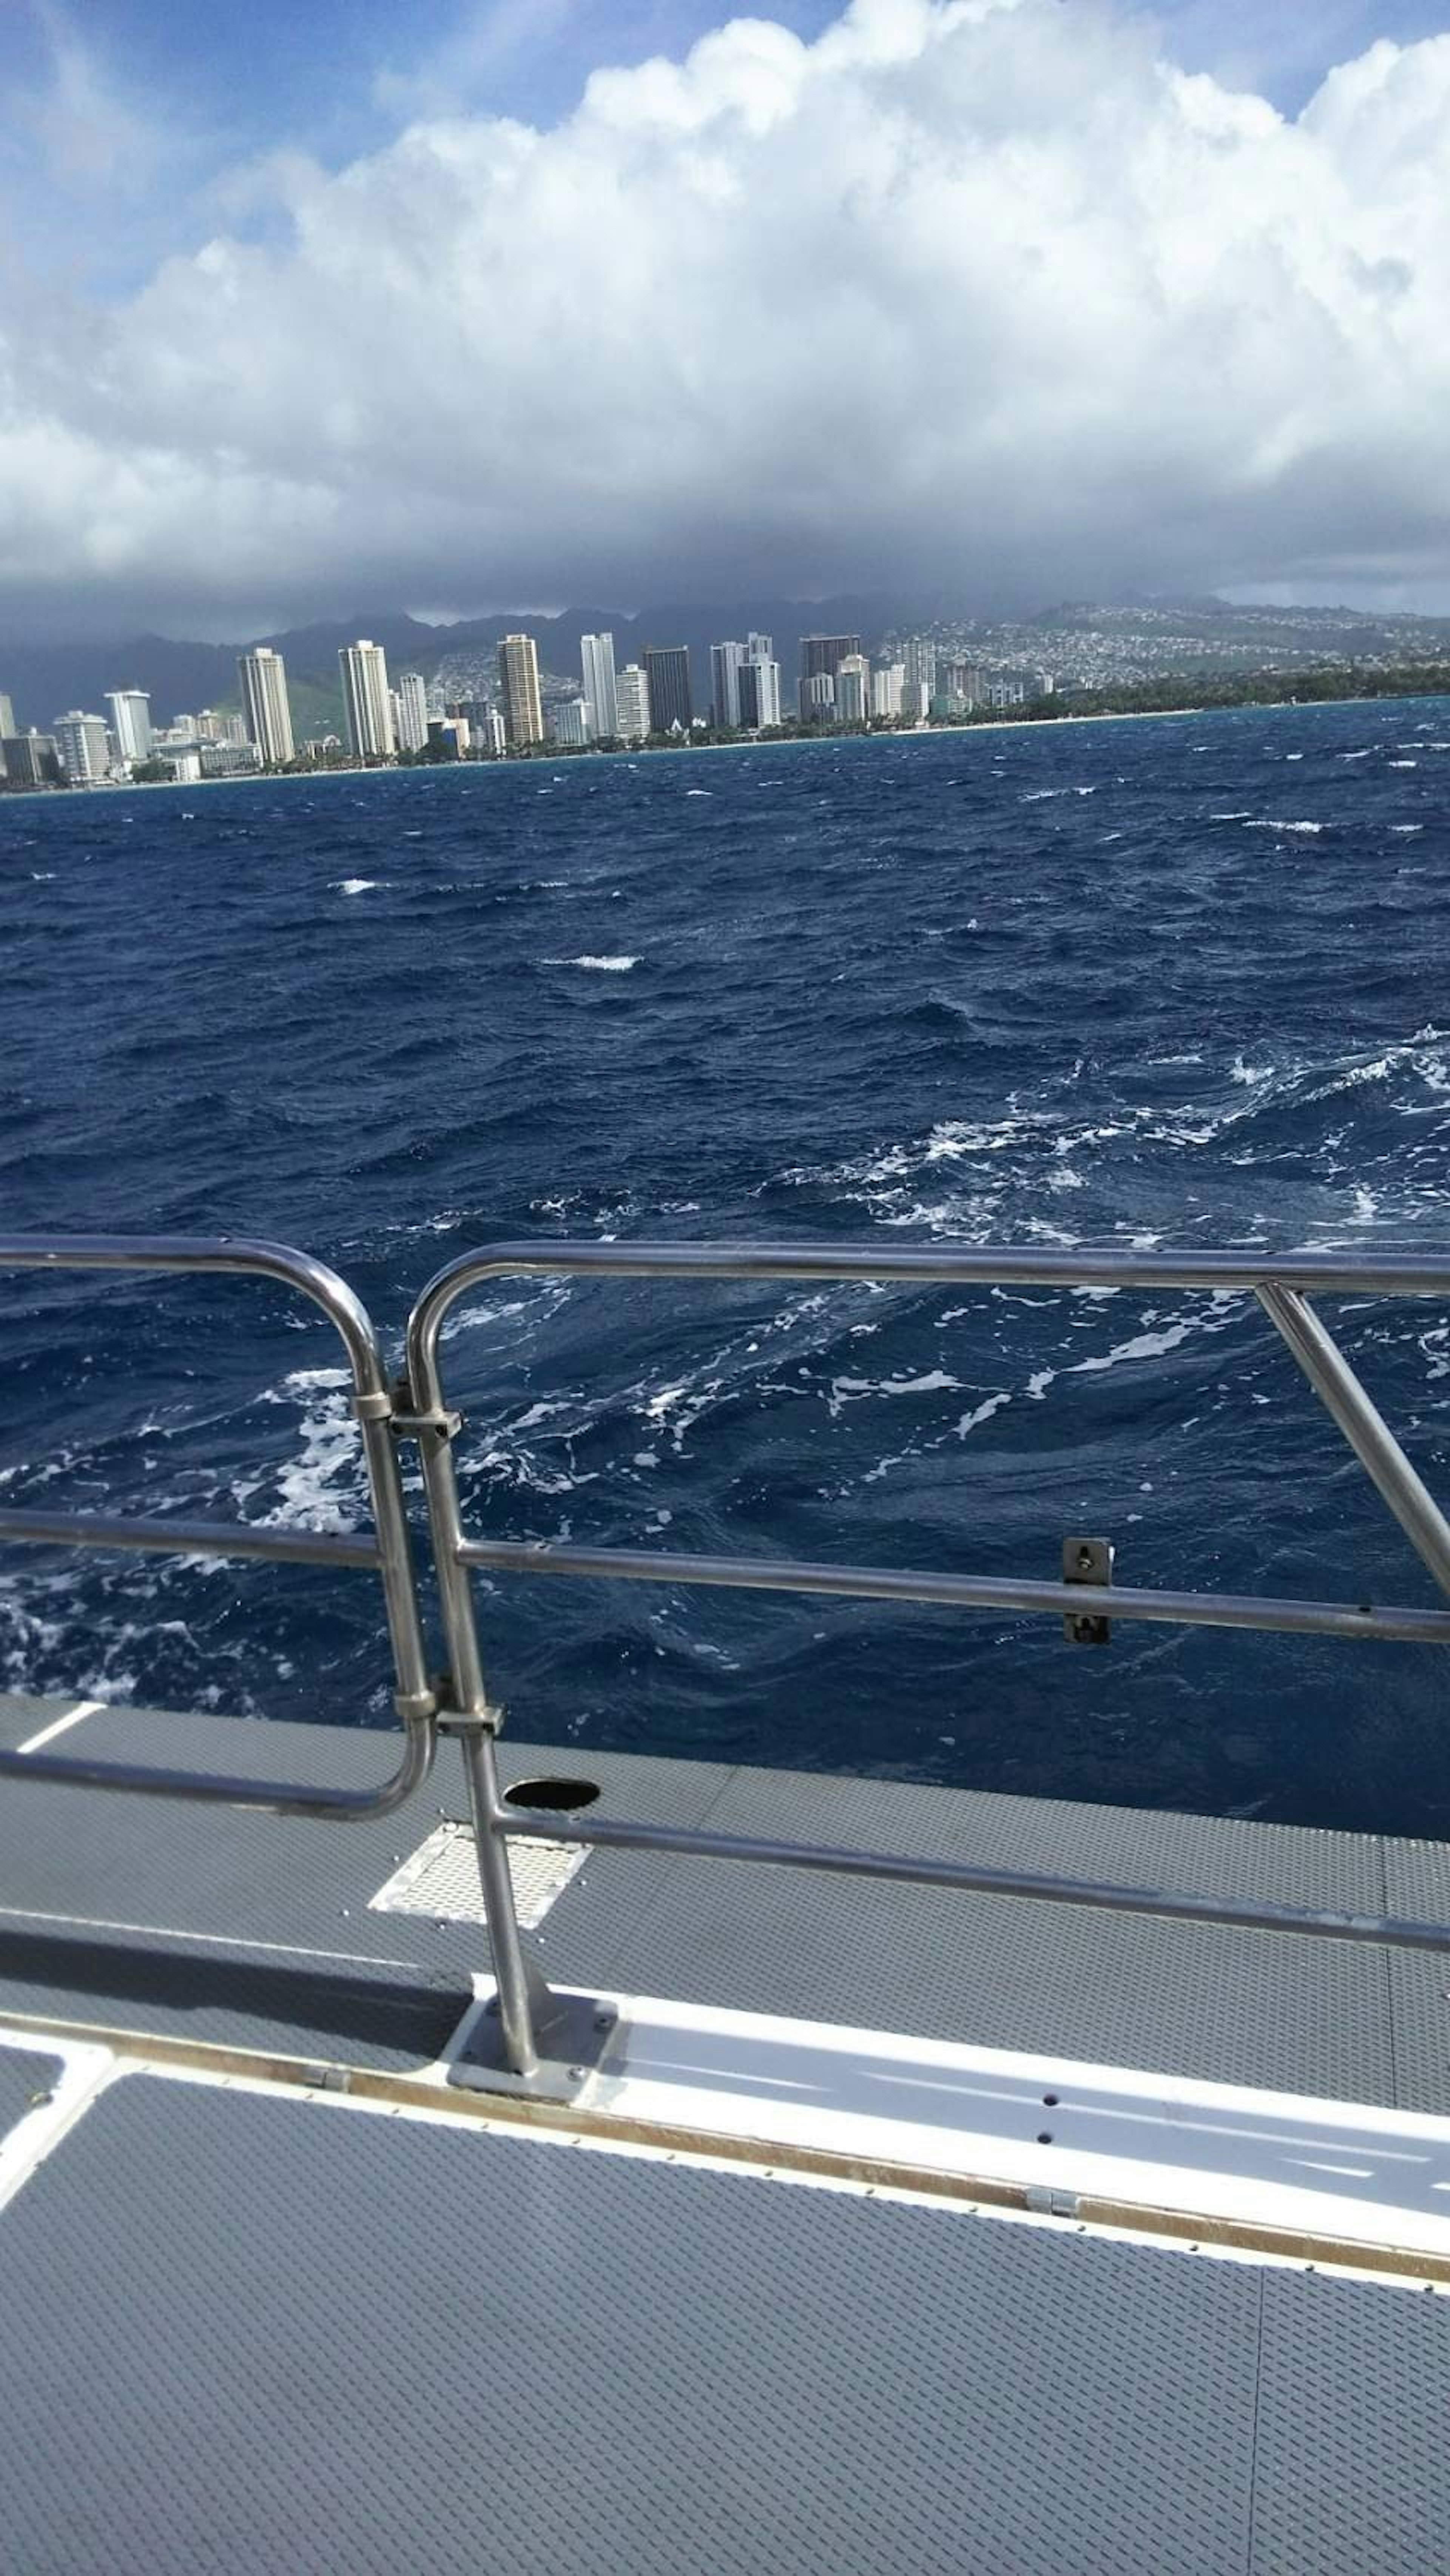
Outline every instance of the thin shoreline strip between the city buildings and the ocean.
[[(984, 716), (979, 724), (914, 724), (901, 726), (889, 734), (780, 734), (778, 739), (749, 737), (742, 742), (670, 742), (646, 750), (644, 744), (623, 744), (618, 752), (577, 752), (556, 747), (556, 755), (567, 768), (587, 760), (628, 762), (639, 760), (695, 760), (701, 752), (819, 752), (827, 744), (842, 747), (847, 742), (860, 744), (889, 744), (889, 742), (961, 742), (963, 734), (1046, 734), (1061, 737), (1079, 724), (1213, 724), (1221, 716), (1306, 716), (1324, 706), (1427, 706), (1447, 703), (1447, 690), (1424, 690), (1422, 696), (1380, 696), (1380, 698), (1247, 698), (1239, 706), (1115, 706), (1102, 708), (1095, 716)], [(425, 760), (417, 765), (397, 768), (345, 768), (345, 770), (247, 770), (237, 778), (144, 778), (126, 781), (118, 786), (95, 788), (5, 788), (0, 791), (0, 814), (8, 804), (49, 804), (52, 799), (113, 799), (113, 796), (180, 796), (211, 793), (214, 788), (291, 788), (291, 786), (319, 786), (325, 781), (343, 783), (348, 778), (448, 778), (448, 775), (505, 775), (520, 770), (538, 770), (549, 765), (549, 752), (538, 752), (531, 760)]]

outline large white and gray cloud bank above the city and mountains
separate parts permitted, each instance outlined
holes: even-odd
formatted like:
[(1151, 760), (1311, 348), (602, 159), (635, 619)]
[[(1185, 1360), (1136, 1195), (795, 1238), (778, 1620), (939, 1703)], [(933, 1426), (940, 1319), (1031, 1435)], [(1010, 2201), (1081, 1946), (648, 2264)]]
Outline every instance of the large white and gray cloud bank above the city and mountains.
[[(1113, 0), (855, 0), (0, 319), (0, 629), (950, 585), (1450, 608), (1450, 33), (1303, 113)], [(10, 245), (10, 260), (23, 260)]]

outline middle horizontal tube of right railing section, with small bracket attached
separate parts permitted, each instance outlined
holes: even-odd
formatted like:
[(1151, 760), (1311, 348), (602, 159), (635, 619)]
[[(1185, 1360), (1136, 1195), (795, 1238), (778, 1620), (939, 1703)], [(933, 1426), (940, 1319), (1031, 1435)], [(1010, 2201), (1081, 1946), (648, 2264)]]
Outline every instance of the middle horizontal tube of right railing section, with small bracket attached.
[(1283, 1602), (1236, 1592), (1136, 1592), (1128, 1584), (1046, 1584), (894, 1566), (814, 1566), (793, 1558), (667, 1556), (646, 1548), (531, 1546), (466, 1538), (458, 1564), (494, 1574), (572, 1574), (634, 1584), (719, 1584), (737, 1592), (840, 1592), (850, 1600), (937, 1602), (945, 1610), (1017, 1610), (1033, 1618), (1146, 1618), (1185, 1628), (1272, 1628), (1285, 1636), (1404, 1638), (1450, 1646), (1450, 1610)]

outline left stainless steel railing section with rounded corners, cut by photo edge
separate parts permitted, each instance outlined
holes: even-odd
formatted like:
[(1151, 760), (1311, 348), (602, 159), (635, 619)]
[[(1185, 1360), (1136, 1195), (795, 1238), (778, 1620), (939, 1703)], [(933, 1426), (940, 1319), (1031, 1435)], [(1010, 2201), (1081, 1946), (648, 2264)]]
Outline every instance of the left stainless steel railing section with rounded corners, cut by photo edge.
[(64, 1780), (80, 1788), (137, 1790), (152, 1798), (198, 1798), (270, 1808), (281, 1816), (386, 1816), (422, 1785), (435, 1752), (438, 1695), (428, 1680), (412, 1538), (391, 1440), (391, 1396), (366, 1306), (348, 1280), (288, 1244), (250, 1236), (188, 1234), (0, 1234), (0, 1270), (221, 1270), (270, 1278), (312, 1298), (340, 1332), (353, 1376), (353, 1412), (373, 1507), (371, 1535), (263, 1530), (255, 1522), (126, 1520), (95, 1512), (0, 1512), (0, 1543), (142, 1548), (173, 1556), (270, 1556), (286, 1564), (376, 1566), (384, 1587), (394, 1659), (394, 1708), (404, 1721), (397, 1770), (368, 1790), (299, 1780), (247, 1780), (227, 1772), (183, 1772), (131, 1762), (88, 1762), (59, 1754), (0, 1752), (0, 1777)]

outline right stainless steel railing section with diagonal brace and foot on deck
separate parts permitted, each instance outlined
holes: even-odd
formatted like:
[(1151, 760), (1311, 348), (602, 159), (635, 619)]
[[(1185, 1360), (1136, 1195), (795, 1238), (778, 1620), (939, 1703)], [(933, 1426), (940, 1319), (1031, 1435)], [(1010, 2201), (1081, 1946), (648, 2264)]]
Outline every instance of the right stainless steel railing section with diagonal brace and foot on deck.
[(482, 1280), (546, 1278), (670, 1278), (670, 1280), (871, 1280), (943, 1288), (1172, 1288), (1185, 1293), (1252, 1293), (1339, 1425), (1365, 1473), (1406, 1530), (1422, 1561), (1450, 1597), (1450, 1522), (1398, 1440), (1370, 1404), (1344, 1352), (1308, 1303), (1329, 1296), (1440, 1296), (1450, 1303), (1450, 1257), (1442, 1255), (1270, 1255), (1244, 1252), (945, 1252), (935, 1244), (883, 1249), (878, 1244), (494, 1244), (448, 1262), (417, 1298), (407, 1321), (407, 1427), (422, 1448), (433, 1556), (458, 1731), (466, 1731), (469, 1798), (479, 1842), (484, 1914), (494, 1945), (500, 2027), (510, 2066), (533, 2074), (541, 1976), (525, 1953), (513, 1906), (507, 1839), (551, 1834), (605, 1850), (688, 1852), (713, 1860), (755, 1860), (786, 1868), (840, 1870), (865, 1878), (901, 1878), (989, 1896), (1028, 1896), (1118, 1914), (1154, 1914), (1265, 1932), (1306, 1932), (1332, 1940), (1373, 1940), (1393, 1947), (1450, 1947), (1450, 1927), (1388, 1914), (1326, 1914), (1308, 1906), (1241, 1904), (1131, 1888), (1053, 1873), (992, 1870), (966, 1862), (907, 1860), (883, 1852), (847, 1852), (824, 1844), (788, 1844), (703, 1829), (649, 1826), (616, 1819), (579, 1819), (505, 1806), (500, 1795), (494, 1731), (502, 1713), (489, 1703), (469, 1571), (554, 1574), (623, 1582), (721, 1584), (770, 1592), (837, 1592), (865, 1600), (943, 1602), (958, 1610), (1015, 1610), (1046, 1618), (1110, 1615), (1185, 1625), (1267, 1628), (1339, 1638), (1406, 1638), (1450, 1643), (1450, 1610), (1370, 1607), (1350, 1602), (1272, 1600), (1257, 1595), (1151, 1592), (1128, 1587), (1010, 1582), (961, 1574), (919, 1574), (876, 1566), (822, 1566), (791, 1558), (670, 1556), (639, 1548), (579, 1548), (525, 1540), (466, 1538), (453, 1466), (458, 1417), (448, 1412), (440, 1373), (440, 1329), (448, 1309)]

